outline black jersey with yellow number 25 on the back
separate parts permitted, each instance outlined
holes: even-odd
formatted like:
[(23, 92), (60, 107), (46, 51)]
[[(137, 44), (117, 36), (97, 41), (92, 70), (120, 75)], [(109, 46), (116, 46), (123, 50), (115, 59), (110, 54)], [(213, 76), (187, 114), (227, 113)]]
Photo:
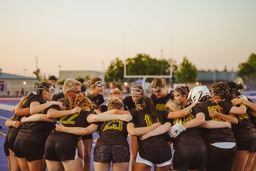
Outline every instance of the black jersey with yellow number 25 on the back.
[(128, 132), (126, 129), (127, 123), (128, 122), (120, 120), (93, 123), (99, 125), (99, 139), (97, 140), (95, 148), (102, 145), (123, 145), (129, 149), (127, 142)]

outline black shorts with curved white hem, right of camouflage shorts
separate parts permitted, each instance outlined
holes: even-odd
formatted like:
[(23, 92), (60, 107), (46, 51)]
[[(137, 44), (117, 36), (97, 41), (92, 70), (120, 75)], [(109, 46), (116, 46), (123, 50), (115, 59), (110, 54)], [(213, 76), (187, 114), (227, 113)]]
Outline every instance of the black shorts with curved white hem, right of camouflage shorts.
[(154, 164), (157, 167), (162, 167), (171, 164), (171, 148), (168, 146), (150, 146), (139, 149), (136, 161), (149, 166)]

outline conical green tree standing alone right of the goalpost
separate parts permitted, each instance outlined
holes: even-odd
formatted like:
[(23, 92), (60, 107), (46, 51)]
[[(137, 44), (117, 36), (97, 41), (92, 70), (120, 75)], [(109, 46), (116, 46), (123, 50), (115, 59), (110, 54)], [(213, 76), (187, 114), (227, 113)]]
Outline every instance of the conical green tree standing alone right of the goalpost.
[(179, 83), (195, 82), (197, 80), (197, 70), (195, 65), (190, 63), (185, 56), (177, 71), (176, 80)]

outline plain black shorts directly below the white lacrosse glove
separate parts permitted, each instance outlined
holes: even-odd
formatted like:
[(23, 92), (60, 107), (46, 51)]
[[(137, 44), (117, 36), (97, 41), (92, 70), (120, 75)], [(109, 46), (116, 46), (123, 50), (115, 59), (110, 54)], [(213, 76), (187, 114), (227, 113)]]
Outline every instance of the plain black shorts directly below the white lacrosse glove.
[(176, 147), (173, 155), (173, 168), (179, 171), (205, 171), (207, 150), (204, 145), (184, 145)]

